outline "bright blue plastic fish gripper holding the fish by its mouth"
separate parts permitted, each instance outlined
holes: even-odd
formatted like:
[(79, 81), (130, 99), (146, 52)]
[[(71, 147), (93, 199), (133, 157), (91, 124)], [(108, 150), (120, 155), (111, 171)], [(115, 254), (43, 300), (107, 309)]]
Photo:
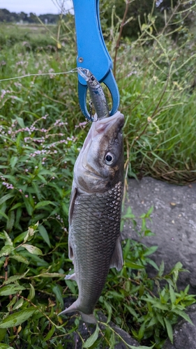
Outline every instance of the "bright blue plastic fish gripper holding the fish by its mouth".
[[(112, 96), (112, 116), (120, 103), (119, 89), (112, 73), (112, 59), (107, 51), (100, 27), (99, 0), (73, 0), (77, 38), (77, 67), (88, 68), (103, 82)], [(86, 81), (78, 75), (78, 96), (82, 113), (91, 116), (86, 107)]]

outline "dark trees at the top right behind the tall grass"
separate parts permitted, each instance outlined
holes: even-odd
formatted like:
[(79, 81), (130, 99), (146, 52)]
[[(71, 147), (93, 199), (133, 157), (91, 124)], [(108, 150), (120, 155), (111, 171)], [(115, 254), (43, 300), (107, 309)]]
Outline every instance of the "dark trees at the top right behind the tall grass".
[[(126, 12), (123, 36), (132, 38), (138, 36), (138, 33), (141, 32), (141, 25), (149, 21), (149, 14), (155, 20), (154, 29), (157, 31), (165, 27), (166, 17), (168, 20), (171, 16), (170, 25), (173, 30), (179, 27), (179, 22), (183, 24), (183, 28), (195, 26), (196, 6), (194, 6), (195, 1), (191, 0), (100, 0), (101, 3), (104, 3), (105, 6), (103, 17), (106, 18), (109, 28), (112, 26), (112, 20), (116, 24)], [(112, 8), (114, 11), (113, 19)]]

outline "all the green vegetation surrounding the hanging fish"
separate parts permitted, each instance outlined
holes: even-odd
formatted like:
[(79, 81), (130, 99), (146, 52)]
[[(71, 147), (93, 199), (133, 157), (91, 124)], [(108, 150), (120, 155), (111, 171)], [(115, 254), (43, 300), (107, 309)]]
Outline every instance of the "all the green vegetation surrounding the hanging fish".
[[(183, 0), (100, 1), (126, 116), (125, 195), (128, 176), (195, 181), (195, 8)], [(184, 309), (195, 296), (188, 286), (177, 289), (180, 262), (164, 275), (164, 262), (149, 257), (156, 246), (142, 244), (152, 235), (151, 208), (140, 217), (141, 242), (123, 244), (125, 265), (108, 276), (96, 309), (107, 315), (104, 329), (96, 327), (84, 341), (77, 318), (57, 316), (64, 298), (77, 296), (75, 282), (63, 280), (73, 268), (68, 206), (73, 165), (90, 124), (80, 112), (77, 75), (66, 73), (76, 65), (73, 15), (62, 12), (47, 25), (45, 17), (33, 23), (32, 15), (22, 15), (0, 10), (0, 348), (114, 348), (119, 335), (111, 319), (141, 348), (163, 348), (179, 315), (190, 321)], [(122, 227), (125, 219), (137, 230), (130, 208)], [(152, 280), (147, 264), (157, 271)]]

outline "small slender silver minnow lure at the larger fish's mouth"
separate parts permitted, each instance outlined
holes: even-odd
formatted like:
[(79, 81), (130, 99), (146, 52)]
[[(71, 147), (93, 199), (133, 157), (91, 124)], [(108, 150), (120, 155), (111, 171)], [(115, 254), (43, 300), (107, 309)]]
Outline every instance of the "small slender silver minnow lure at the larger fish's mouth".
[(91, 73), (89, 69), (77, 68), (77, 72), (86, 80), (86, 84), (89, 87), (89, 93), (96, 110), (98, 120), (110, 117), (107, 100), (103, 92), (102, 87), (96, 77)]

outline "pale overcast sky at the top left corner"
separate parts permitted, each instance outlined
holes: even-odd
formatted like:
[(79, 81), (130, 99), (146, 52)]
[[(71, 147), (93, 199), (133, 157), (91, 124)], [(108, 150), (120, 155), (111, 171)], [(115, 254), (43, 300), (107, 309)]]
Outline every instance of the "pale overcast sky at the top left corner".
[[(0, 0), (0, 8), (6, 8), (10, 12), (36, 13), (42, 15), (45, 13), (58, 14), (60, 11), (57, 3), (63, 3), (63, 0)], [(64, 0), (66, 10), (73, 7), (71, 0)]]

